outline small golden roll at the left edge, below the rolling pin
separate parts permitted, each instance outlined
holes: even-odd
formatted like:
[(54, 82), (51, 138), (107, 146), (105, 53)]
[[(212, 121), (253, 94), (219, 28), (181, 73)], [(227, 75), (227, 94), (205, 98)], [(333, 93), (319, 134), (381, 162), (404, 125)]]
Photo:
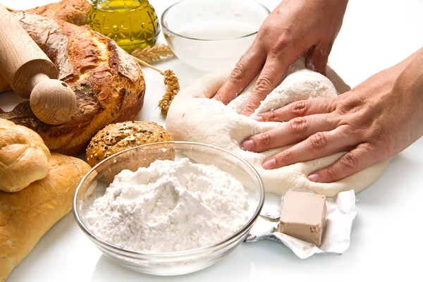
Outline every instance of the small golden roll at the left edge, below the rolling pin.
[(0, 118), (0, 190), (17, 192), (46, 177), (49, 159), (37, 133)]

